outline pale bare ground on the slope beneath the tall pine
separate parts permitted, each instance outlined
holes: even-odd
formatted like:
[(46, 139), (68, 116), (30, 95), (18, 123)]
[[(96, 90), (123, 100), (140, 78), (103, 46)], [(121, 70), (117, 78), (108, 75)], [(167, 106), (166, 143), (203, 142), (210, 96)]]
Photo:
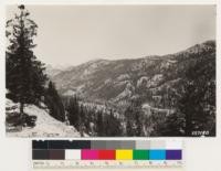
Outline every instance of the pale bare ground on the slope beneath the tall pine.
[[(7, 107), (18, 104), (7, 100)], [(34, 105), (28, 105), (24, 108), (28, 115), (36, 116), (36, 126), (33, 128), (24, 127), (19, 132), (7, 132), (9, 137), (80, 137), (80, 133), (72, 126), (67, 126), (49, 115), (49, 111)]]

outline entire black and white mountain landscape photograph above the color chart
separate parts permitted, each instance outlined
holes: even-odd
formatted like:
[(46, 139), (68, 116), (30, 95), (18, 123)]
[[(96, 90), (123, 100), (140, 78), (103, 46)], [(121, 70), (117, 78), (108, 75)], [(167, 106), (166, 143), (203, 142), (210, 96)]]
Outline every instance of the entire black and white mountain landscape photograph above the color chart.
[(215, 137), (215, 6), (6, 14), (7, 137)]

